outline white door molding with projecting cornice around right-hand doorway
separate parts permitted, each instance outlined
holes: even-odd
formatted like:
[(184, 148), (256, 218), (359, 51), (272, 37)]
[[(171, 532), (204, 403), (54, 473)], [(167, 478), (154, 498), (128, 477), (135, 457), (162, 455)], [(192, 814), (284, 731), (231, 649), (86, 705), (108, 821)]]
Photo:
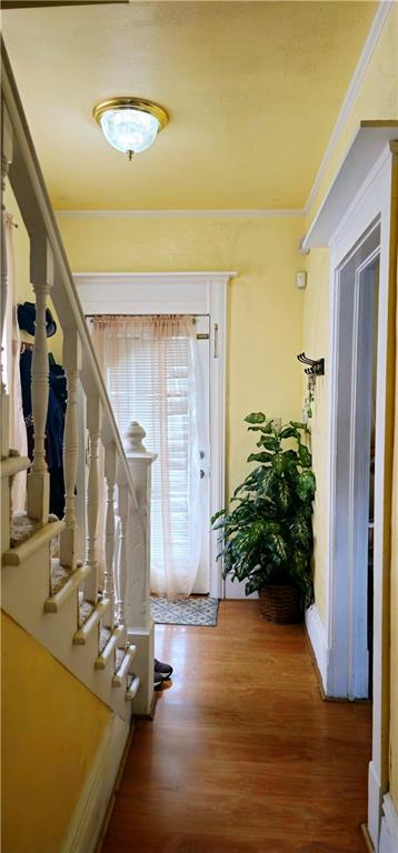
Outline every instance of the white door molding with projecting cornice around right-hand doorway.
[[(375, 471), (375, 552), (374, 552), (374, 701), (372, 754), (368, 777), (368, 830), (375, 851), (380, 851), (382, 797), (388, 791), (388, 726), (389, 726), (389, 513), (391, 505), (391, 435), (392, 383), (395, 380), (394, 339), (395, 310), (390, 295), (390, 267), (396, 259), (391, 249), (392, 179), (398, 154), (397, 122), (365, 122), (335, 177), (325, 202), (320, 207), (304, 241), (307, 249), (328, 247), (330, 250), (330, 324), (328, 393), (328, 473), (327, 506), (328, 553), (326, 555), (326, 605), (324, 646), (329, 652), (330, 665), (324, 665), (325, 691), (334, 695), (335, 678), (339, 666), (336, 654), (336, 608), (334, 592), (334, 524), (336, 521), (336, 334), (337, 334), (337, 275), (336, 270), (354, 252), (358, 241), (378, 218), (380, 221), (379, 265), (379, 323), (376, 414)], [(392, 268), (391, 268), (392, 269)], [(391, 278), (392, 281), (392, 278)], [(389, 361), (389, 363), (388, 363)], [(387, 374), (387, 365), (389, 373)], [(388, 444), (386, 445), (386, 441)], [(388, 464), (387, 464), (388, 462)], [(336, 599), (335, 599), (336, 601)], [(340, 606), (340, 602), (336, 602)], [(347, 595), (342, 601), (347, 609)], [(347, 624), (347, 620), (346, 620)], [(347, 640), (347, 634), (346, 634)], [(346, 650), (345, 650), (346, 654)], [(327, 656), (327, 655), (326, 655)], [(325, 655), (324, 655), (325, 658)], [(325, 664), (325, 661), (324, 661)]]

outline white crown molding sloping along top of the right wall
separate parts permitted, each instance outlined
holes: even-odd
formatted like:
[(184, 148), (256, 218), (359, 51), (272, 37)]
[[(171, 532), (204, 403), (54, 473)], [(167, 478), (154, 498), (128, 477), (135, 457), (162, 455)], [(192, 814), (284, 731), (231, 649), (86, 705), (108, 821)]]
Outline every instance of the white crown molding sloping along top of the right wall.
[(364, 44), (362, 52), (359, 57), (359, 61), (357, 64), (357, 68), (351, 77), (350, 84), (347, 89), (346, 97), (344, 99), (340, 112), (337, 118), (337, 122), (334, 127), (331, 137), (329, 139), (327, 149), (325, 151), (322, 161), (320, 163), (317, 177), (314, 181), (312, 188), (310, 190), (310, 193), (308, 195), (308, 199), (306, 201), (304, 212), (307, 215), (315, 202), (315, 199), (317, 197), (318, 190), (320, 188), (320, 184), (325, 178), (326, 171), (328, 169), (328, 165), (330, 163), (330, 160), (335, 153), (337, 143), (341, 137), (344, 127), (346, 124), (346, 121), (348, 119), (348, 116), (352, 109), (354, 101), (358, 94), (358, 91), (360, 89), (360, 86), (362, 83), (365, 73), (367, 71), (368, 64), (370, 62), (370, 59), (372, 57), (374, 50), (376, 48), (376, 44), (381, 36), (382, 28), (386, 23), (388, 13), (394, 4), (395, 0), (380, 0), (378, 10), (375, 14), (375, 18), (372, 20), (372, 24), (370, 27), (368, 38)]

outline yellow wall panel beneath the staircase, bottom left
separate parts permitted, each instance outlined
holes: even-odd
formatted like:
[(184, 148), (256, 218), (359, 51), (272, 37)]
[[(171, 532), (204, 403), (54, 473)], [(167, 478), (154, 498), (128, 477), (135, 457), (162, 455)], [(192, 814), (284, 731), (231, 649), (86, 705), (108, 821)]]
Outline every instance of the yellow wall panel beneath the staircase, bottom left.
[(57, 853), (111, 712), (2, 614), (2, 849)]

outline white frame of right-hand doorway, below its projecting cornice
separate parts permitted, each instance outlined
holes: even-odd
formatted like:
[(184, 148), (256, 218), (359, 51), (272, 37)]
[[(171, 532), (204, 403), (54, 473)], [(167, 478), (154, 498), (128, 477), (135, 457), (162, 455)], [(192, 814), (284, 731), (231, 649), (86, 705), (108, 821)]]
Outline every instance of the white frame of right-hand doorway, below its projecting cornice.
[[(387, 414), (387, 340), (388, 340), (388, 298), (389, 298), (389, 264), (390, 264), (390, 207), (391, 207), (391, 151), (385, 148), (350, 204), (346, 217), (329, 241), (330, 247), (330, 395), (329, 417), (331, 424), (329, 448), (329, 584), (326, 590), (326, 632), (329, 649), (329, 665), (326, 673), (326, 692), (330, 696), (349, 695), (352, 685), (358, 683), (358, 649), (352, 648), (356, 633), (355, 620), (358, 608), (362, 603), (356, 601), (355, 584), (355, 535), (351, 513), (351, 525), (346, 528), (347, 541), (345, 552), (351, 554), (351, 582), (347, 583), (347, 564), (339, 562), (336, 554), (336, 523), (338, 521), (337, 505), (337, 388), (339, 368), (339, 271), (345, 259), (352, 252), (364, 235), (369, 233), (372, 224), (379, 223), (379, 311), (378, 311), (378, 349), (377, 349), (377, 400), (376, 400), (376, 454), (375, 454), (375, 550), (374, 550), (374, 708), (372, 708), (372, 757), (369, 764), (369, 812), (368, 827), (377, 851), (381, 819), (382, 794), (387, 780), (385, 779), (385, 761), (382, 740), (386, 732), (382, 727), (382, 711), (386, 701), (386, 681), (389, 673), (382, 672), (384, 642), (386, 639), (386, 620), (384, 612), (386, 603), (386, 566), (384, 559), (385, 524), (385, 442)], [(355, 442), (349, 448), (349, 464), (355, 470)], [(352, 485), (355, 495), (356, 484)], [(386, 610), (386, 609), (385, 609)], [(341, 683), (342, 680), (346, 688)], [(351, 686), (350, 686), (351, 685)]]

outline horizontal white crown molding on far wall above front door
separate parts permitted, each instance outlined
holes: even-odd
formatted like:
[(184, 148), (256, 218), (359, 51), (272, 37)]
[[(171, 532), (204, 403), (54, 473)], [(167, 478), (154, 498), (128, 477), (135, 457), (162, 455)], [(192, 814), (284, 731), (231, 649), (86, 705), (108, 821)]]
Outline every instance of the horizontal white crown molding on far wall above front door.
[(262, 219), (275, 217), (304, 217), (304, 209), (256, 208), (209, 210), (56, 210), (58, 219), (179, 219), (221, 217), (231, 219)]

